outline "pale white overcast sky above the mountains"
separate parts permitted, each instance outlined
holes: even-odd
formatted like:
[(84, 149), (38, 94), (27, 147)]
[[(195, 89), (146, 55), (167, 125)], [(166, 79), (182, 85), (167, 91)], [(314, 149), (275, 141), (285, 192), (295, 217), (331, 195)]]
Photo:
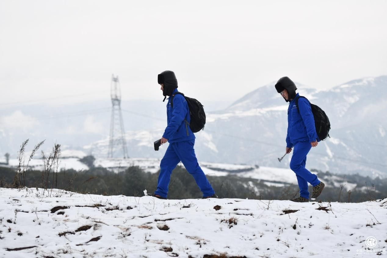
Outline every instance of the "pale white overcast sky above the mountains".
[(1, 0), (0, 107), (109, 99), (112, 73), (123, 99), (161, 101), (163, 70), (199, 100), (282, 76), (326, 89), (386, 75), (386, 31), (384, 0)]

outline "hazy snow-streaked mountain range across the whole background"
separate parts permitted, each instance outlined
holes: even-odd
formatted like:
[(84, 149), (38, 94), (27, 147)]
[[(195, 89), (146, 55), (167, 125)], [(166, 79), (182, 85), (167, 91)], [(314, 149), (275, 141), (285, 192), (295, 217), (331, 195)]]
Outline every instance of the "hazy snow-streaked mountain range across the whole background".
[[(359, 173), (386, 178), (387, 119), (384, 113), (387, 110), (387, 76), (352, 80), (323, 91), (299, 83), (296, 85), (300, 95), (324, 109), (332, 127), (331, 138), (310, 151), (307, 167), (335, 174)], [(110, 103), (82, 105), (68, 106), (68, 111), (75, 113), (105, 105), (108, 108)], [(268, 84), (245, 94), (220, 111), (208, 112), (205, 109), (207, 123), (204, 131), (195, 134), (198, 159), (202, 162), (288, 168), (291, 155), (286, 155), (281, 163), (277, 160), (286, 147), (287, 107), (288, 103), (276, 92), (274, 84)], [(48, 112), (44, 107), (22, 108), (24, 113), (28, 111), (26, 109), (39, 115)], [(38, 120), (39, 123), (29, 127), (32, 129), (24, 129), (24, 121), (8, 129), (2, 125), (0, 153), (10, 152), (11, 158), (14, 158), (22, 140), (30, 138), (30, 144), (34, 145), (46, 138), (44, 147), (48, 151), (57, 141), (62, 144), (63, 150), (83, 150), (87, 154), (106, 157), (110, 111), (56, 120), (55, 114), (62, 116), (62, 109), (66, 107), (53, 111), (50, 119), (44, 117)], [(163, 157), (167, 146), (154, 151), (153, 142), (161, 137), (166, 126), (164, 104), (137, 100), (123, 102), (122, 109), (129, 156)], [(29, 149), (32, 146), (27, 147)], [(117, 152), (116, 157), (119, 156)]]

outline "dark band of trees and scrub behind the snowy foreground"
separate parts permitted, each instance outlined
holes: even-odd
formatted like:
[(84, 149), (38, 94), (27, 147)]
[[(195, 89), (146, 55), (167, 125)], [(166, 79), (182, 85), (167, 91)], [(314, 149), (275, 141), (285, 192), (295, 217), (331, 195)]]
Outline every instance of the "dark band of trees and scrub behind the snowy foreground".
[[(149, 173), (140, 167), (128, 167), (125, 171), (114, 173), (103, 167), (94, 167), (89, 160), (90, 169), (75, 171), (62, 170), (45, 179), (44, 186), (78, 193), (99, 195), (144, 196), (143, 191), (153, 193), (156, 190), (158, 173)], [(15, 183), (15, 169), (0, 167), (0, 187), (22, 187)], [(42, 187), (42, 171), (28, 170), (24, 172), (26, 187)], [(331, 176), (329, 172), (319, 171), (319, 178)], [(371, 179), (360, 175), (336, 175), (345, 181), (356, 183), (354, 190), (347, 191), (343, 186), (333, 186), (326, 182), (324, 191), (318, 198), (331, 202), (364, 202), (387, 197), (387, 180)], [(252, 178), (241, 178), (237, 175), (207, 176), (219, 198), (248, 198), (257, 200), (288, 200), (298, 196), (298, 186), (268, 186), (264, 181)], [(324, 181), (325, 182), (325, 181)], [(277, 182), (281, 183), (281, 182)], [(337, 185), (337, 183), (336, 183)], [(365, 186), (366, 190), (358, 188)], [(311, 186), (310, 186), (311, 191)], [(202, 193), (194, 178), (183, 167), (176, 167), (172, 173), (169, 186), (169, 199), (201, 198)]]

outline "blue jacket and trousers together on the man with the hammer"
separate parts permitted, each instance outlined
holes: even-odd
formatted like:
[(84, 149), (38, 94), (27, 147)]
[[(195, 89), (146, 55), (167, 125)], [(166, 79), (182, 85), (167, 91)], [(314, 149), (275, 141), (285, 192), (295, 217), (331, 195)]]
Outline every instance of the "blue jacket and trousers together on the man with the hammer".
[(320, 180), (305, 168), (305, 163), (307, 162), (307, 154), (312, 148), (310, 143), (316, 140), (319, 142), (320, 139), (317, 136), (312, 109), (307, 99), (302, 97), (298, 99), (300, 109), (300, 113), (298, 113), (295, 100), (299, 96), (297, 93), (296, 97), (289, 103), (286, 147), (294, 147), (290, 169), (296, 173), (300, 196), (309, 199), (308, 183), (316, 186)]

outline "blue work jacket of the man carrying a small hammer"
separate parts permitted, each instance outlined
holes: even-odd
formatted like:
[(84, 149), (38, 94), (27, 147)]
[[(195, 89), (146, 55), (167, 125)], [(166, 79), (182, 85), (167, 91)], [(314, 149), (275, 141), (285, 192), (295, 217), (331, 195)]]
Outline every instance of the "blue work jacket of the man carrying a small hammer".
[(293, 148), (297, 142), (320, 141), (310, 103), (307, 99), (300, 97), (298, 99), (300, 113), (298, 113), (296, 106), (296, 98), (298, 97), (300, 95), (297, 93), (296, 97), (290, 101), (288, 108), (288, 133), (286, 135), (286, 147), (288, 148)]

